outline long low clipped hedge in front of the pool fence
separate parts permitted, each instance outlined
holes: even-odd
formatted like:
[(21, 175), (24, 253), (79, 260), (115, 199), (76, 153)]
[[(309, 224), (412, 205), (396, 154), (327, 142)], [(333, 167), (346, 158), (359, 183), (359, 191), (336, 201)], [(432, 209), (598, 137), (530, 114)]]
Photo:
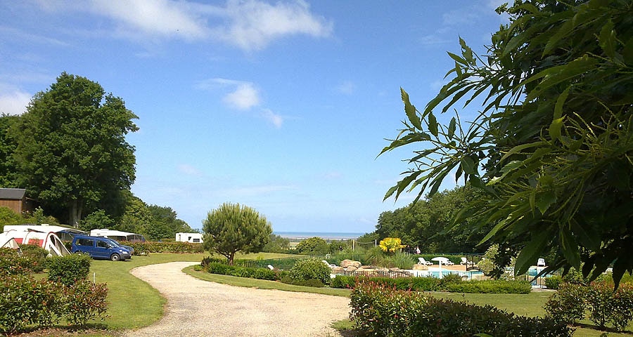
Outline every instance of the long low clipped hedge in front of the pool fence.
[(530, 293), (532, 290), (530, 282), (504, 280), (462, 281), (459, 276), (445, 277), (443, 279), (435, 277), (399, 277), (391, 279), (388, 277), (337, 275), (332, 279), (331, 286), (333, 288), (352, 289), (359, 279), (390, 286), (397, 290), (450, 291), (454, 293)]

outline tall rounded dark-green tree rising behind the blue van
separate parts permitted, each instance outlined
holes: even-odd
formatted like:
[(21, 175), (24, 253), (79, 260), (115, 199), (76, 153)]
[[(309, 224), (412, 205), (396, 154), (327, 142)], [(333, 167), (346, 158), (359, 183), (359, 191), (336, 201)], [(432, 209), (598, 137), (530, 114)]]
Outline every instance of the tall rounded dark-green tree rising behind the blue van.
[(138, 129), (136, 118), (100, 84), (63, 72), (34, 95), (13, 128), (22, 185), (71, 225), (102, 200), (120, 199), (113, 195), (129, 190), (135, 178), (134, 147), (125, 136)]

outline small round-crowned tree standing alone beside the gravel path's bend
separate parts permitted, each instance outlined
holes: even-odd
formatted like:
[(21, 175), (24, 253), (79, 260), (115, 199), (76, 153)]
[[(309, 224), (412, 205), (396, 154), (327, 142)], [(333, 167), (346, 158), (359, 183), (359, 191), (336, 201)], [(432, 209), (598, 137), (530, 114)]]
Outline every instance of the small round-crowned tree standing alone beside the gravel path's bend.
[(203, 220), (205, 248), (215, 251), (233, 264), (235, 253), (257, 253), (268, 243), (272, 227), (255, 209), (225, 203)]

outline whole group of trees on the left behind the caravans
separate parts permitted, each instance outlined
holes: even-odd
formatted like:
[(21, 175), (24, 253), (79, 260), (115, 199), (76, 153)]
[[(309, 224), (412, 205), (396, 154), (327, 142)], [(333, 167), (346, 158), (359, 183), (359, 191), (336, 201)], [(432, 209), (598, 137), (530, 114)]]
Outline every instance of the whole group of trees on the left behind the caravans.
[(125, 136), (138, 130), (134, 119), (122, 98), (65, 72), (35, 94), (23, 114), (0, 112), (0, 187), (25, 188), (39, 206), (39, 218), (0, 210), (0, 225), (46, 218), (148, 239), (191, 232), (173, 209), (148, 205), (130, 191), (136, 157)]

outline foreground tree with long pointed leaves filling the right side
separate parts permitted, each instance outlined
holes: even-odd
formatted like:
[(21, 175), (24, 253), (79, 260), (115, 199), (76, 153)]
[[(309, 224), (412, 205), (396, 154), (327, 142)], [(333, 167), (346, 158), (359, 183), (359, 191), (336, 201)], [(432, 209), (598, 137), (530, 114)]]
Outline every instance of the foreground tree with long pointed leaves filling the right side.
[[(613, 265), (617, 286), (633, 272), (633, 2), (517, 0), (497, 11), (511, 20), (487, 55), (460, 39), (451, 81), (424, 109), (402, 91), (407, 120), (383, 152), (422, 148), (385, 198), (433, 194), (454, 171), (482, 191), (461, 217), (492, 223), (484, 240), (519, 252), (517, 273), (551, 253), (547, 270), (597, 277)], [(482, 103), (478, 117), (438, 124), (458, 102)]]

